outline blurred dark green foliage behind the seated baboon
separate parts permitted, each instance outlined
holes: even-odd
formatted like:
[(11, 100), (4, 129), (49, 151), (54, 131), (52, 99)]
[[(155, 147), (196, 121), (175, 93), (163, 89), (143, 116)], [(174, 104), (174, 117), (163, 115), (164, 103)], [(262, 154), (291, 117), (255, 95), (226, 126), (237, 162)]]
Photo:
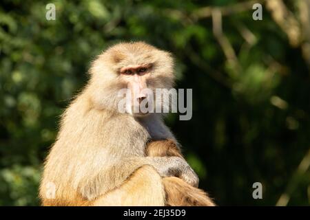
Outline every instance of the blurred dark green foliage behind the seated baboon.
[(309, 0), (0, 4), (0, 206), (39, 205), (43, 159), (90, 62), (137, 40), (172, 52), (177, 87), (193, 89), (192, 120), (167, 124), (218, 205), (309, 206)]

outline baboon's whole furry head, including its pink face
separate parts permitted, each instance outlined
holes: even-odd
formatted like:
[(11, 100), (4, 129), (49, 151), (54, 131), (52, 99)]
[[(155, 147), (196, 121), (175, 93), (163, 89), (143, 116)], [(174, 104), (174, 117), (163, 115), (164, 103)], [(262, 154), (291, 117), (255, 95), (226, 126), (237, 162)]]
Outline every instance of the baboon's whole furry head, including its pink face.
[(127, 89), (126, 112), (141, 116), (149, 113), (139, 109), (142, 104), (147, 107), (148, 99), (154, 100), (155, 89), (172, 88), (174, 62), (171, 54), (152, 45), (119, 43), (99, 55), (90, 74), (90, 87), (94, 89), (92, 101), (96, 107), (119, 110), (119, 103), (124, 98), (120, 90)]

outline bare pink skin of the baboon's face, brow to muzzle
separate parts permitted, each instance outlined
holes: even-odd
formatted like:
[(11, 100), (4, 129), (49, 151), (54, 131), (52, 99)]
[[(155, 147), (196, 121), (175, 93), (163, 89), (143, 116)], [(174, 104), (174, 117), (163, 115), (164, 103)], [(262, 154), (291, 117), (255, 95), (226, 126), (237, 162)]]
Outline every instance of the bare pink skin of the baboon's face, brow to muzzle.
[(140, 103), (146, 98), (145, 91), (147, 88), (147, 78), (149, 78), (149, 65), (130, 65), (121, 68), (121, 78), (127, 83), (128, 89), (132, 91), (132, 97)]

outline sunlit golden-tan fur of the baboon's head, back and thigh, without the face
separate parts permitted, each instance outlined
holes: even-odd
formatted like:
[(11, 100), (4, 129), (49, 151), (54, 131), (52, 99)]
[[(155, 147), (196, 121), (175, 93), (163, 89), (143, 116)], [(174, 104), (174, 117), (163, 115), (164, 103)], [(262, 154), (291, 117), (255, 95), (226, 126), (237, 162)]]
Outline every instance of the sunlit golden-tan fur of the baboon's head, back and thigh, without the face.
[[(120, 43), (98, 56), (87, 85), (61, 116), (45, 159), (39, 190), (44, 206), (164, 206), (166, 192), (182, 190), (164, 190), (162, 178), (145, 160), (149, 141), (175, 141), (161, 114), (134, 118), (117, 111), (118, 89), (126, 86), (118, 70), (139, 64), (152, 64), (150, 88), (173, 86), (172, 56), (151, 45)], [(54, 198), (48, 197), (51, 183)]]

